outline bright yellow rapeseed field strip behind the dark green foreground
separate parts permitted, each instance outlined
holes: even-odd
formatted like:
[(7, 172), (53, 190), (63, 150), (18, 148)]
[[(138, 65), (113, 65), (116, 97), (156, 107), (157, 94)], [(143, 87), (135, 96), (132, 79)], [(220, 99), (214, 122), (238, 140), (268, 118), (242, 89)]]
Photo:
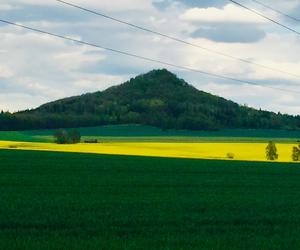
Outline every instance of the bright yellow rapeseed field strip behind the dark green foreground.
[[(160, 142), (110, 142), (98, 144), (58, 145), (54, 143), (0, 141), (0, 149), (80, 152), (113, 155), (178, 157), (193, 159), (228, 159), (266, 161), (267, 143), (160, 143)], [(291, 162), (294, 144), (276, 144), (279, 162)]]

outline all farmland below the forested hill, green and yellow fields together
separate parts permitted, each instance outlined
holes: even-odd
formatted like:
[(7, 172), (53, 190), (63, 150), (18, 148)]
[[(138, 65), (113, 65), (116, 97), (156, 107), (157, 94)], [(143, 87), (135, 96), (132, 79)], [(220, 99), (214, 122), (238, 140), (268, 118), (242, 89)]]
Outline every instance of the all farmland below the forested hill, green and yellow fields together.
[(299, 249), (298, 131), (79, 130), (0, 132), (0, 249)]

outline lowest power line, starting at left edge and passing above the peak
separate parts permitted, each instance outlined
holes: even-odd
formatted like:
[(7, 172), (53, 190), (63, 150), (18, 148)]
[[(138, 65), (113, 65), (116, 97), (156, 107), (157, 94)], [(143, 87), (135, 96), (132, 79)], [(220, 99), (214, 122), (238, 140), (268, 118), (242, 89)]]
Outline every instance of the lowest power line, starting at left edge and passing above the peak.
[(105, 47), (105, 46), (98, 45), (98, 44), (93, 44), (93, 43), (90, 43), (90, 42), (85, 42), (85, 41), (82, 41), (82, 40), (77, 40), (77, 39), (74, 39), (74, 38), (71, 38), (71, 37), (67, 37), (67, 36), (55, 34), (55, 33), (49, 32), (49, 31), (44, 31), (44, 30), (32, 28), (32, 27), (29, 27), (29, 26), (25, 26), (25, 25), (22, 25), (22, 24), (18, 24), (18, 23), (3, 20), (3, 19), (0, 19), (0, 22), (8, 24), (8, 25), (13, 25), (13, 26), (16, 26), (16, 27), (19, 27), (19, 28), (23, 28), (23, 29), (26, 29), (26, 30), (34, 31), (34, 32), (37, 32), (37, 33), (41, 33), (41, 34), (61, 38), (61, 39), (67, 40), (67, 41), (72, 41), (72, 42), (75, 42), (75, 43), (78, 43), (78, 44), (81, 44), (81, 45), (87, 45), (87, 46), (95, 47), (95, 48), (98, 48), (98, 49), (103, 49), (103, 50), (107, 50), (107, 51), (110, 51), (110, 52), (122, 54), (122, 55), (125, 55), (125, 56), (141, 59), (141, 60), (144, 60), (144, 61), (154, 62), (154, 63), (166, 65), (166, 66), (171, 66), (171, 67), (174, 67), (174, 68), (177, 68), (177, 69), (183, 69), (183, 70), (187, 70), (187, 71), (191, 71), (191, 72), (195, 72), (195, 73), (200, 73), (200, 74), (203, 74), (203, 75), (207, 75), (207, 76), (211, 76), (211, 77), (215, 77), (215, 78), (220, 78), (220, 79), (223, 79), (223, 80), (230, 80), (230, 81), (244, 83), (244, 84), (248, 84), (248, 85), (260, 86), (260, 87), (265, 87), (265, 88), (269, 88), (269, 89), (280, 90), (280, 91), (283, 91), (283, 92), (290, 92), (290, 93), (300, 94), (300, 92), (298, 92), (298, 91), (292, 91), (292, 90), (288, 90), (288, 89), (282, 89), (282, 88), (271, 87), (271, 86), (263, 86), (261, 84), (258, 84), (258, 83), (252, 82), (252, 81), (237, 79), (237, 78), (233, 78), (233, 77), (229, 77), (229, 76), (224, 76), (224, 75), (221, 75), (221, 74), (215, 74), (215, 73), (211, 73), (211, 72), (207, 72), (207, 71), (203, 71), (203, 70), (199, 70), (199, 69), (194, 69), (194, 68), (190, 68), (190, 67), (186, 67), (186, 66), (181, 66), (181, 65), (161, 61), (161, 60), (158, 60), (158, 59), (153, 59), (153, 58), (149, 58), (149, 57), (145, 57), (145, 56), (140, 56), (140, 55), (137, 55), (137, 54), (133, 54), (133, 53), (117, 50), (117, 49), (112, 49), (112, 48), (109, 48), (109, 47)]

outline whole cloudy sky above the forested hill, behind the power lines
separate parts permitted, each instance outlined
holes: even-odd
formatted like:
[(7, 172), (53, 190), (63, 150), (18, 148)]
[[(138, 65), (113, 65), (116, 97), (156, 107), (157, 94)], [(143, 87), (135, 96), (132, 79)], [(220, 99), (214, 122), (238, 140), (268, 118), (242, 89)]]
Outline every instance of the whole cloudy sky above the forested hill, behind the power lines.
[[(253, 81), (261, 86), (167, 67), (198, 89), (240, 104), (300, 114), (300, 35), (227, 0), (66, 1), (202, 47), (298, 74), (299, 77), (180, 44), (55, 0), (0, 0), (0, 19), (157, 60)], [(300, 22), (280, 16), (251, 0), (239, 1), (300, 32)], [(300, 0), (260, 1), (300, 19)], [(130, 77), (163, 67), (0, 24), (0, 110), (34, 108), (59, 98), (104, 90)]]

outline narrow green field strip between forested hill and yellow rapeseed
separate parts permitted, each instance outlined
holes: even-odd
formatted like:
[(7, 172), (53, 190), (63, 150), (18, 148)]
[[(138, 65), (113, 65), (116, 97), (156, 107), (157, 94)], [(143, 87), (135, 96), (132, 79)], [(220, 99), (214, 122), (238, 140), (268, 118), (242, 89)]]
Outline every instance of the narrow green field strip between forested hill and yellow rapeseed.
[[(223, 129), (218, 131), (161, 130), (142, 125), (115, 125), (78, 129), (84, 139), (100, 141), (156, 141), (156, 142), (296, 142), (300, 139), (300, 130), (255, 130)], [(0, 131), (0, 140), (47, 142), (53, 141), (54, 130)]]

